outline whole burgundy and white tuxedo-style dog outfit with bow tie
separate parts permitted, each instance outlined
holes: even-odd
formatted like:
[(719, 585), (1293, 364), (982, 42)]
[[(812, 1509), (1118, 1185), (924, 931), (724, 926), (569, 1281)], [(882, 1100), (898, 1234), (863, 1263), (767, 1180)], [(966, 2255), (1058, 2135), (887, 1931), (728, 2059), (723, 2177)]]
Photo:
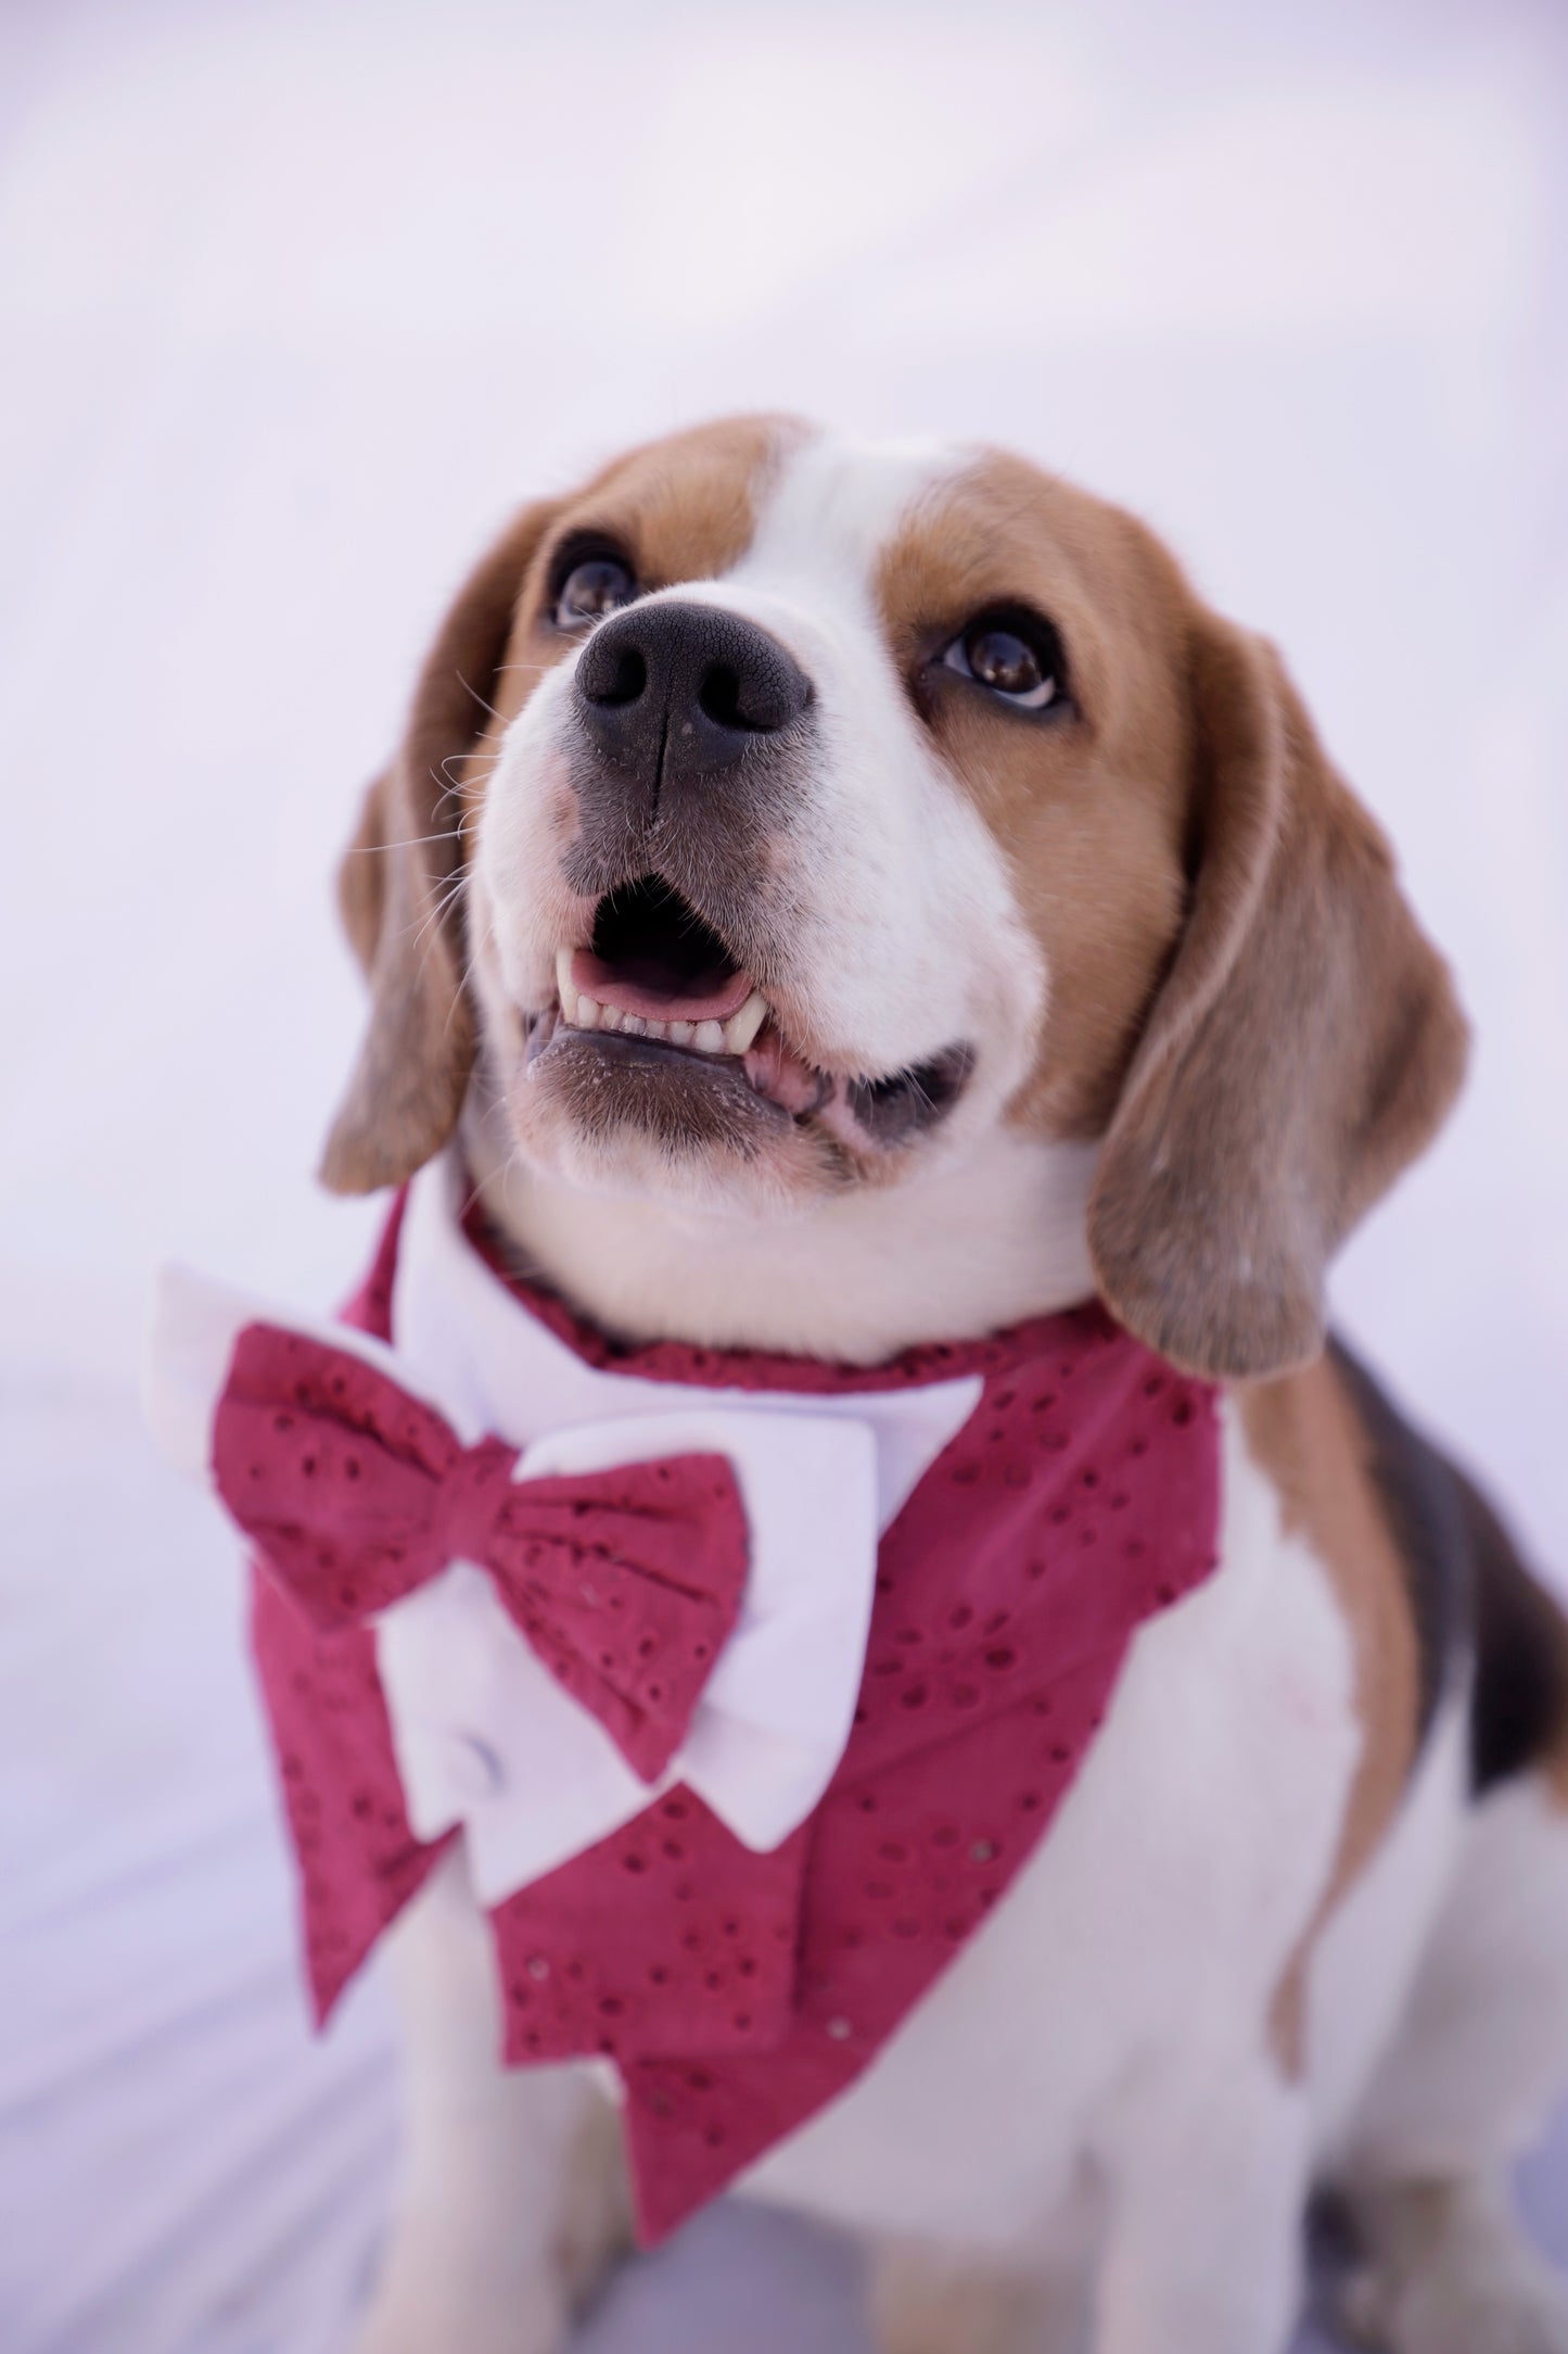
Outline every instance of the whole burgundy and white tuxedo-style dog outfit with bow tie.
[(153, 1417), (254, 1551), (317, 2020), (461, 1836), (505, 2060), (614, 2067), (644, 2241), (875, 2060), (1215, 1565), (1213, 1394), (1100, 1306), (623, 1349), (454, 1161), (343, 1325), (165, 1278)]

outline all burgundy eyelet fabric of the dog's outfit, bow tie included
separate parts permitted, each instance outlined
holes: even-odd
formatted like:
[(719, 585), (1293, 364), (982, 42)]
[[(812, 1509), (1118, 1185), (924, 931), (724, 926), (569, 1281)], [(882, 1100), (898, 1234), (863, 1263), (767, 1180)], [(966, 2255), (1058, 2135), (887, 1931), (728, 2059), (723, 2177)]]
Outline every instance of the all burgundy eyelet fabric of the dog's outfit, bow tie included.
[[(402, 1201), (343, 1318), (381, 1339), (400, 1219)], [(468, 1241), (484, 1250), (473, 1222)], [(853, 2083), (1004, 1897), (1138, 1624), (1215, 1565), (1213, 1391), (1098, 1306), (853, 1370), (668, 1342), (618, 1351), (559, 1302), (510, 1290), (595, 1368), (654, 1382), (985, 1384), (882, 1540), (853, 1730), (799, 1829), (755, 1853), (677, 1784), (489, 1916), (505, 2060), (595, 2055), (621, 2072), (646, 2243)], [(367, 1612), (456, 1556), (480, 1561), (649, 1782), (733, 1627), (745, 1516), (724, 1457), (522, 1485), (512, 1462), (498, 1441), (461, 1448), (348, 1354), (268, 1325), (240, 1337), (214, 1471), (256, 1544), (252, 1634), (317, 2017), (447, 1846), (409, 1829)]]

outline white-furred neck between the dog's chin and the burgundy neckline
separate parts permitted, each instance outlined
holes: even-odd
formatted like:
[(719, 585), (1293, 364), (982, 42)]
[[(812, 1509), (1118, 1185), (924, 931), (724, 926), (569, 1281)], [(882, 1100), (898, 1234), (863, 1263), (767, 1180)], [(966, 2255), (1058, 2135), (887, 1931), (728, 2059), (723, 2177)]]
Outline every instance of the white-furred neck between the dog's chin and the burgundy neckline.
[(623, 1339), (870, 1365), (1074, 1306), (1095, 1288), (1086, 1144), (999, 1132), (959, 1163), (792, 1219), (581, 1193), (524, 1168), (501, 1113), (480, 1106), (463, 1149), (520, 1269)]

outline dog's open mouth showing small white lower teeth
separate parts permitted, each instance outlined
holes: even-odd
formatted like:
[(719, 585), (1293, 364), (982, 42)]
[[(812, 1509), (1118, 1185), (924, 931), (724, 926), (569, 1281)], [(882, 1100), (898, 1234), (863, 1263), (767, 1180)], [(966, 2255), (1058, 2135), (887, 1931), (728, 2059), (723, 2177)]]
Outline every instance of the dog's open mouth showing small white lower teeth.
[(849, 1146), (903, 1144), (957, 1104), (973, 1048), (879, 1078), (835, 1073), (799, 1052), (724, 939), (661, 876), (607, 892), (583, 949), (555, 960), (557, 1003), (531, 1024), (529, 1064), (564, 1045), (684, 1088), (743, 1085), (785, 1118), (818, 1116)]

